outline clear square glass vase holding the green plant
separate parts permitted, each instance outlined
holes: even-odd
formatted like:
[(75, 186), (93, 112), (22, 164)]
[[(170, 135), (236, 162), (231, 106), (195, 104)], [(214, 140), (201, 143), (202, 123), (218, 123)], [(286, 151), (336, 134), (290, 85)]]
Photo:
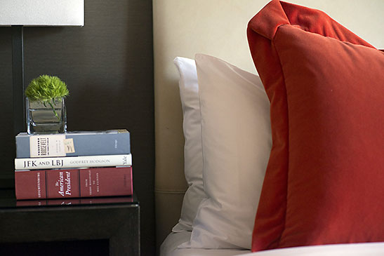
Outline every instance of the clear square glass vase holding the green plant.
[(67, 112), (64, 98), (55, 98), (45, 104), (26, 98), (27, 133), (65, 133)]

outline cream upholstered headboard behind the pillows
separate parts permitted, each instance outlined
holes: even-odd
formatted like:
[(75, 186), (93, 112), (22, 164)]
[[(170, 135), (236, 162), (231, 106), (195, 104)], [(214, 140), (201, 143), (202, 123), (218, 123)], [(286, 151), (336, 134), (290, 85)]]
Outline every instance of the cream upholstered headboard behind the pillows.
[[(267, 0), (153, 0), (156, 208), (158, 243), (178, 220), (183, 176), (182, 112), (173, 58), (214, 55), (256, 72), (248, 21)], [(384, 0), (296, 0), (318, 8), (376, 48), (384, 48)]]

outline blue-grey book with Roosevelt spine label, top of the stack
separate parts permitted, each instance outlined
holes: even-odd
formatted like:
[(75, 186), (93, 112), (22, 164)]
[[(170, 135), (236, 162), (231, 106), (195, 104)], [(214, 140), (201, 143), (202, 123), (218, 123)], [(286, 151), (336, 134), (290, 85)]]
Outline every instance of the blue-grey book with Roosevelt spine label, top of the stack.
[(16, 135), (16, 158), (131, 154), (128, 130)]

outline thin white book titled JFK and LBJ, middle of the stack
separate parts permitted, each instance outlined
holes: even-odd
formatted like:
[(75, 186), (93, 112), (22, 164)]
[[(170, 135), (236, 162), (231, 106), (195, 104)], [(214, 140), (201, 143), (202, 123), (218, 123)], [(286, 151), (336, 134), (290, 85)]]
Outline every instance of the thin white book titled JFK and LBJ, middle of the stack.
[(131, 154), (15, 159), (15, 170), (132, 166)]

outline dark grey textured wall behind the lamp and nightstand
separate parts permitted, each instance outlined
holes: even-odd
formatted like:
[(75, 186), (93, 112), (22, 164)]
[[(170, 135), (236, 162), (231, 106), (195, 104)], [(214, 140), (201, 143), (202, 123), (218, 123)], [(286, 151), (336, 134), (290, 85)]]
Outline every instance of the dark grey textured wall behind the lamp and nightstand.
[[(84, 27), (25, 27), (25, 85), (40, 74), (69, 88), (68, 130), (126, 128), (140, 200), (142, 255), (154, 255), (152, 1), (85, 1)], [(13, 187), (11, 27), (0, 27), (0, 187)]]

